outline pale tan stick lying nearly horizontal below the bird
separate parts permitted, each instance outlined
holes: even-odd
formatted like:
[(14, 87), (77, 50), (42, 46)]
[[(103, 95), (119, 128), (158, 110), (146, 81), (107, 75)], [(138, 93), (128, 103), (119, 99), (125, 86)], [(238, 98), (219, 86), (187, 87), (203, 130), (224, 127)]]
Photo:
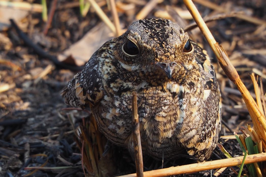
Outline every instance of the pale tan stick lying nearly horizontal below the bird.
[[(217, 169), (222, 167), (241, 165), (244, 156), (233, 157), (228, 159), (221, 159), (209, 162), (193, 163), (189, 165), (182, 165), (176, 167), (169, 167), (166, 169), (145, 171), (144, 177), (162, 177), (171, 176), (184, 173), (194, 173), (198, 171)], [(245, 164), (266, 161), (266, 153), (252, 154), (246, 156)], [(123, 175), (118, 177), (136, 177), (136, 174)]]

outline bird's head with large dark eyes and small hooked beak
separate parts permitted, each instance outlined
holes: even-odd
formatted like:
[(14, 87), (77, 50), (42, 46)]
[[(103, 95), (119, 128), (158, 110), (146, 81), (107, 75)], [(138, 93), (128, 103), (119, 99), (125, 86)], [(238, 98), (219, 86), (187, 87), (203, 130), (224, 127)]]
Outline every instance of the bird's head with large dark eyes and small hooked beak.
[(121, 38), (119, 62), (140, 66), (148, 79), (178, 80), (196, 67), (188, 33), (171, 20), (135, 21)]

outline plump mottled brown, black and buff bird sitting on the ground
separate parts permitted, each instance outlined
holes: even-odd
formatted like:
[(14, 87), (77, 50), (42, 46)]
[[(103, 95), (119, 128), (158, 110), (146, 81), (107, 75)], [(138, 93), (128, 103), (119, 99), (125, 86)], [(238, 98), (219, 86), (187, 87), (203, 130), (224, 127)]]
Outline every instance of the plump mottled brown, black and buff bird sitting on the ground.
[(145, 19), (102, 45), (62, 95), (68, 105), (90, 106), (99, 130), (133, 152), (132, 92), (144, 154), (208, 159), (221, 130), (221, 102), (205, 50), (176, 23)]

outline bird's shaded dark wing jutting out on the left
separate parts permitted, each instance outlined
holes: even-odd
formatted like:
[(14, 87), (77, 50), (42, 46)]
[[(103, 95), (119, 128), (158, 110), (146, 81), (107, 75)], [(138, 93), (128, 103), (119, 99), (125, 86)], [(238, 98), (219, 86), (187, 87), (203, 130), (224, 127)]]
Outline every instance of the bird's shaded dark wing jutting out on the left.
[(62, 91), (66, 104), (84, 108), (88, 104), (95, 105), (103, 97), (102, 74), (96, 56), (97, 53), (94, 53), (84, 69)]

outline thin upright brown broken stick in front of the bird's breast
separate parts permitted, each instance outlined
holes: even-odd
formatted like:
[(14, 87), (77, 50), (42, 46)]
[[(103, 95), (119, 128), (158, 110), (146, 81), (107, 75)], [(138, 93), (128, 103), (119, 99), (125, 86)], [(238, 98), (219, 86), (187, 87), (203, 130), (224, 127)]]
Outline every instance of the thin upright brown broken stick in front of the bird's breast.
[(139, 115), (138, 115), (138, 105), (137, 105), (137, 94), (132, 93), (132, 135), (134, 143), (134, 155), (136, 162), (136, 175), (138, 177), (143, 177), (143, 160), (142, 160), (142, 148), (140, 142), (140, 132), (139, 132)]

